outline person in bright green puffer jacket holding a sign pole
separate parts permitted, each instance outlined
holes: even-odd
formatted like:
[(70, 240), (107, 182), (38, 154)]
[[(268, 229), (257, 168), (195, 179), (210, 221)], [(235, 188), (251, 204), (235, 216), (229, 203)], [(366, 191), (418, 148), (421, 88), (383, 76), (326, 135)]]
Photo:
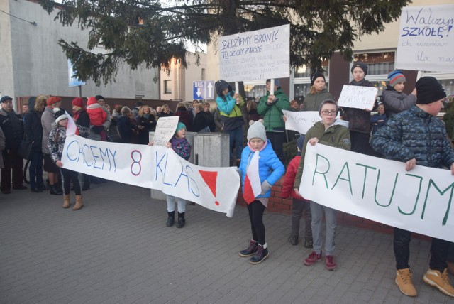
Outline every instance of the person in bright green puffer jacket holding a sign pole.
[(279, 80), (275, 79), (274, 94), (270, 94), (271, 80), (266, 81), (267, 94), (260, 97), (257, 106), (257, 112), (265, 121), (267, 130), (267, 138), (275, 148), (275, 152), (279, 160), (284, 163), (284, 142), (285, 139), (285, 122), (282, 116), (282, 110), (290, 109), (289, 97), (284, 94), (279, 87)]

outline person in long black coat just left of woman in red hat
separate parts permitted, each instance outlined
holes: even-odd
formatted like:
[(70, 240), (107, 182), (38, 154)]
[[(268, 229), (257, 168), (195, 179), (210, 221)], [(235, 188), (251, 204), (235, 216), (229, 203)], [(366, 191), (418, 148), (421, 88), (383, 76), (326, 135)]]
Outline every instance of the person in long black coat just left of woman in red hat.
[(30, 97), (28, 99), (28, 112), (24, 116), (23, 126), (28, 142), (32, 142), (30, 165), (28, 174), (30, 175), (31, 192), (43, 192), (48, 190), (43, 182), (43, 125), (41, 115), (43, 115), (47, 98), (43, 95)]

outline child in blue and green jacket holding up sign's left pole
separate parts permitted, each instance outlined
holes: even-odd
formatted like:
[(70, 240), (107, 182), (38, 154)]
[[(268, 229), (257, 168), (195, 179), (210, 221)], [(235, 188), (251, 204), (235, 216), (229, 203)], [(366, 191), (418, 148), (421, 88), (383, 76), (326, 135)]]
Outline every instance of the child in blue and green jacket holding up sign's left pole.
[[(231, 85), (225, 80), (218, 80), (214, 84), (216, 88), (216, 104), (218, 105), (223, 131), (230, 137), (231, 161), (236, 159), (236, 165), (241, 160), (243, 151), (243, 128), (245, 121), (241, 108), (244, 106), (244, 100), (240, 94), (236, 93)], [(233, 156), (233, 141), (235, 141), (236, 158)]]

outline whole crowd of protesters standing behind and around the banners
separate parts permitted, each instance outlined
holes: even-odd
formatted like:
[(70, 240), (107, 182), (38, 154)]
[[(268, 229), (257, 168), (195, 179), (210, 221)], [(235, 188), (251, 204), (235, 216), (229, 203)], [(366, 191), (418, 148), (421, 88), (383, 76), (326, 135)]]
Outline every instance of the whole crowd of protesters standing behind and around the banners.
[[(356, 62), (351, 69), (353, 80), (349, 85), (371, 87), (367, 81), (367, 65)], [(299, 104), (279, 86), (279, 80), (266, 80), (267, 94), (248, 100), (235, 92), (224, 80), (215, 84), (216, 108), (211, 104), (179, 102), (172, 112), (167, 104), (152, 107), (138, 102), (133, 109), (116, 105), (113, 111), (96, 95), (87, 99), (72, 100), (72, 117), (61, 109), (60, 97), (31, 97), (23, 105), (23, 113), (16, 114), (12, 98), (1, 98), (0, 149), (2, 158), (0, 190), (4, 194), (13, 190), (25, 190), (23, 185), (23, 158), (30, 160), (29, 175), (32, 192), (50, 190), (51, 195), (63, 195), (62, 207), (71, 205), (70, 191), (75, 192), (73, 210), (83, 207), (82, 191), (89, 190), (90, 183), (103, 180), (62, 168), (61, 161), (66, 128), (74, 119), (77, 134), (96, 141), (150, 144), (148, 134), (155, 131), (161, 117), (178, 116), (175, 135), (167, 144), (178, 156), (189, 159), (192, 147), (186, 132), (224, 132), (229, 135), (231, 164), (238, 167), (242, 192), (248, 206), (251, 239), (248, 248), (239, 251), (242, 257), (250, 257), (250, 264), (265, 261), (270, 252), (265, 237), (263, 214), (271, 195), (271, 188), (284, 176), (281, 195), (292, 197), (292, 229), (289, 242), (299, 243), (299, 222), (305, 217), (304, 247), (312, 248), (304, 259), (304, 265), (312, 266), (321, 261), (323, 254), (323, 217), (325, 218), (325, 266), (336, 269), (337, 211), (305, 200), (299, 193), (304, 155), (308, 144), (325, 144), (368, 156), (402, 161), (406, 170), (416, 164), (431, 168), (449, 168), (454, 175), (454, 151), (447, 139), (445, 126), (436, 118), (443, 107), (446, 94), (433, 77), (422, 77), (416, 88), (407, 95), (404, 91), (406, 78), (402, 71), (389, 73), (389, 85), (380, 103), (374, 105), (377, 114), (370, 110), (338, 107), (333, 95), (326, 89), (325, 76), (321, 72), (311, 75), (311, 91)], [(274, 87), (272, 87), (274, 85)], [(321, 121), (295, 139), (297, 155), (284, 167), (284, 143), (289, 141), (285, 129), (283, 110), (317, 111)], [(47, 183), (43, 170), (48, 173)], [(11, 178), (12, 172), (12, 178)], [(63, 182), (62, 182), (63, 181)], [(260, 182), (258, 190), (257, 183)], [(255, 183), (255, 184), (254, 184)], [(62, 186), (63, 185), (63, 186)], [(175, 224), (177, 202), (177, 227), (186, 223), (186, 201), (167, 195), (167, 227)], [(394, 228), (394, 256), (397, 274), (395, 282), (405, 295), (416, 296), (409, 266), (409, 242), (411, 232)], [(442, 239), (432, 239), (430, 268), (423, 281), (435, 286), (446, 295), (454, 297), (448, 269), (454, 271), (454, 245)]]

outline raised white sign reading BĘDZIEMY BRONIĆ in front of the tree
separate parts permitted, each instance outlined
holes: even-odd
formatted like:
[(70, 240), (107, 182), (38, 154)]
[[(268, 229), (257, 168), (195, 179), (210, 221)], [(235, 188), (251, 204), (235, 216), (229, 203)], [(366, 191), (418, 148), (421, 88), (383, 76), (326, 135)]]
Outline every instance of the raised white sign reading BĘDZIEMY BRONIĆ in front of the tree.
[(227, 82), (289, 77), (290, 26), (218, 38), (220, 77)]

